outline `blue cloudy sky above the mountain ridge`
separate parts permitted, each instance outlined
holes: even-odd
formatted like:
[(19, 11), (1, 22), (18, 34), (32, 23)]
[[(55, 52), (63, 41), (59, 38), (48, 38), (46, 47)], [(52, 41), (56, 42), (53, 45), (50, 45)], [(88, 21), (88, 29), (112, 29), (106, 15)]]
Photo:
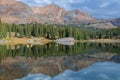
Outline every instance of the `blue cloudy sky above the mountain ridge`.
[(57, 4), (67, 10), (79, 9), (96, 18), (120, 18), (120, 0), (21, 0), (32, 6)]

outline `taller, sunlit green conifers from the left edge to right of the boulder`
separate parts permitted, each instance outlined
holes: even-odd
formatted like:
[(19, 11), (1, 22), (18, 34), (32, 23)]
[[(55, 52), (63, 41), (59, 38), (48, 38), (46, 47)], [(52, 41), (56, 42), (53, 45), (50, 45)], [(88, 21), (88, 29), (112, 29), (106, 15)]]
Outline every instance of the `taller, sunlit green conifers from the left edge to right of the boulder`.
[[(87, 32), (71, 25), (48, 25), (48, 24), (0, 24), (0, 38), (11, 37), (45, 37), (58, 39), (63, 37), (74, 37), (75, 39), (87, 39)], [(9, 34), (8, 34), (9, 33)], [(19, 35), (18, 35), (19, 34)]]

